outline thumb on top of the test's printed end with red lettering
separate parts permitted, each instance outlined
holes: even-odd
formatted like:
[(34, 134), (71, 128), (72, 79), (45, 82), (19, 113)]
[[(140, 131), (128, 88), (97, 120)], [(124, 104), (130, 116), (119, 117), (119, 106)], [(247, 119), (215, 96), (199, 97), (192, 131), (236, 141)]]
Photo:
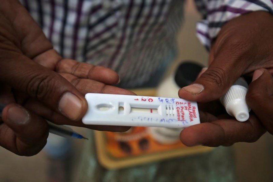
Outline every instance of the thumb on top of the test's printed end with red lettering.
[(233, 64), (227, 65), (227, 62), (214, 60), (194, 83), (181, 88), (178, 95), (180, 98), (197, 102), (219, 99), (244, 71), (242, 67), (235, 68)]

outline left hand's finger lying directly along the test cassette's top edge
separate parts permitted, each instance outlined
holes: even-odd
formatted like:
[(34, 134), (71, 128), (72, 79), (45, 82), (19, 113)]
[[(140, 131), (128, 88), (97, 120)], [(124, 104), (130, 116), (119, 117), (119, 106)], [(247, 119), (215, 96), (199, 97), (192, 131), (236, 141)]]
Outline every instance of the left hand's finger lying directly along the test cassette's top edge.
[(106, 85), (104, 83), (90, 80), (90, 79), (79, 79), (78, 77), (60, 73), (65, 79), (67, 79), (73, 86), (75, 86), (81, 93), (108, 93), (108, 94), (121, 94), (121, 95), (136, 95), (130, 90), (118, 88), (115, 86)]

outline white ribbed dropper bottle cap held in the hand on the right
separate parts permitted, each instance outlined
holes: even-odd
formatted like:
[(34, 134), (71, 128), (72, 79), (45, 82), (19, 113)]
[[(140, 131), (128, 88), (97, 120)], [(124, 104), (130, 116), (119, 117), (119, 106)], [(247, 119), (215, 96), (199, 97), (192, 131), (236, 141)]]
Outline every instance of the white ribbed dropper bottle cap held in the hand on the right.
[[(236, 83), (238, 83), (238, 81)], [(248, 89), (245, 84), (233, 85), (220, 99), (227, 113), (241, 122), (249, 118), (250, 109), (245, 101), (247, 91)]]

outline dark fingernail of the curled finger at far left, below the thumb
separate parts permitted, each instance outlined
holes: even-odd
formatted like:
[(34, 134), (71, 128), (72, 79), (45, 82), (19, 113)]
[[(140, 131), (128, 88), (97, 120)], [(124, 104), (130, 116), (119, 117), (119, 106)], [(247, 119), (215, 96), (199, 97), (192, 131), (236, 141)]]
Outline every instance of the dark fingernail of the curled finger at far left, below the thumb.
[(8, 122), (25, 124), (29, 120), (29, 113), (21, 106), (12, 106), (8, 109)]

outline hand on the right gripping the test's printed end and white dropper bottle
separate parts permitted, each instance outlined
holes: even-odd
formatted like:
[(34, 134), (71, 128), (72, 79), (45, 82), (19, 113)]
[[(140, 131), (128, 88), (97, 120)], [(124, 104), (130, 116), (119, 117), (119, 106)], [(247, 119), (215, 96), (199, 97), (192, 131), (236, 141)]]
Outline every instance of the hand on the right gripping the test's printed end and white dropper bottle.
[[(193, 85), (179, 90), (184, 99), (199, 102), (201, 124), (190, 126), (180, 133), (180, 140), (187, 146), (216, 147), (236, 142), (254, 142), (269, 131), (268, 95), (251, 94), (247, 102), (251, 107), (250, 118), (239, 122), (226, 114), (218, 99), (240, 76), (252, 76), (260, 68), (273, 73), (273, 16), (267, 12), (251, 12), (227, 22), (215, 40), (209, 58), (209, 67)], [(261, 87), (255, 88), (256, 90)], [(264, 89), (261, 89), (261, 92)], [(252, 95), (252, 96), (251, 96)], [(254, 95), (254, 96), (253, 96)], [(260, 101), (260, 108), (254, 106)], [(266, 127), (266, 128), (265, 128)], [(270, 131), (271, 132), (271, 131)]]

